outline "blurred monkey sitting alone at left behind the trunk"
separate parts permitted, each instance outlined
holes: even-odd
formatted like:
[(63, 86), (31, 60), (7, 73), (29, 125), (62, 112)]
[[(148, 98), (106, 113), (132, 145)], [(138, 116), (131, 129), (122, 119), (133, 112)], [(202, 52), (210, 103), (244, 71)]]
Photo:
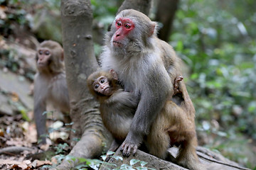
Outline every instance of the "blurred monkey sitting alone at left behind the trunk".
[(38, 140), (46, 143), (46, 106), (50, 103), (62, 113), (69, 113), (68, 87), (65, 79), (63, 48), (58, 42), (41, 42), (36, 54), (38, 69), (34, 79), (34, 118)]

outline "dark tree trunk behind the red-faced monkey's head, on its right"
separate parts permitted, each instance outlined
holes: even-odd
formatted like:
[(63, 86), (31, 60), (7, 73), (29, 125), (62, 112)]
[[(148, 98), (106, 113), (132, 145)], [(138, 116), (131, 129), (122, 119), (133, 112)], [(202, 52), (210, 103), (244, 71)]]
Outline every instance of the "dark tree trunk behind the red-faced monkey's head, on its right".
[(163, 24), (158, 35), (161, 40), (168, 42), (177, 8), (178, 0), (159, 0), (156, 12), (156, 21)]

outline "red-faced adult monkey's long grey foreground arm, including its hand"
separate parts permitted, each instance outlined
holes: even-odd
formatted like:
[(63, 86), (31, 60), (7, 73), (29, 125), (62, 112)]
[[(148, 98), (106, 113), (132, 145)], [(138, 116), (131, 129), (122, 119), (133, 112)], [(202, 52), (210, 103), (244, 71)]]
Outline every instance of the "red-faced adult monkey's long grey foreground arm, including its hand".
[(173, 88), (170, 88), (170, 77), (163, 66), (152, 66), (145, 73), (147, 74), (143, 75), (141, 80), (144, 85), (139, 105), (121, 147), (123, 155), (127, 157), (131, 152), (135, 154), (143, 137), (149, 134), (151, 124), (163, 108), (166, 98), (173, 93)]

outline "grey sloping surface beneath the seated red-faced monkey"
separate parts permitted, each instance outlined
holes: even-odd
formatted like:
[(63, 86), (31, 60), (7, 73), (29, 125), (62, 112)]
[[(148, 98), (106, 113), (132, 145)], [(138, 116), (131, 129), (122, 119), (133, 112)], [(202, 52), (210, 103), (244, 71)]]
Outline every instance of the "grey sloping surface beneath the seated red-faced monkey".
[[(172, 147), (168, 150), (174, 157), (178, 154), (178, 148)], [(226, 159), (221, 154), (215, 153), (210, 151), (209, 149), (198, 147), (197, 154), (199, 157), (199, 161), (201, 162), (201, 166), (203, 169), (221, 169), (221, 170), (250, 170), (245, 167), (240, 166), (239, 164)], [(122, 157), (122, 152), (118, 149), (114, 156)], [(128, 158), (124, 158), (121, 162), (120, 160), (111, 158), (107, 163), (110, 164), (102, 164), (100, 170), (107, 170), (107, 169), (118, 169), (118, 167), (122, 166), (122, 164), (130, 164), (131, 159), (139, 159), (140, 161), (147, 162), (145, 165), (146, 168), (151, 169), (166, 169), (166, 170), (188, 170), (183, 168), (182, 166), (178, 166), (173, 162), (167, 162), (163, 159), (155, 157), (151, 154), (147, 154), (138, 150), (135, 155), (131, 155)], [(114, 164), (115, 166), (112, 166)], [(134, 164), (133, 168), (139, 166), (139, 163)]]

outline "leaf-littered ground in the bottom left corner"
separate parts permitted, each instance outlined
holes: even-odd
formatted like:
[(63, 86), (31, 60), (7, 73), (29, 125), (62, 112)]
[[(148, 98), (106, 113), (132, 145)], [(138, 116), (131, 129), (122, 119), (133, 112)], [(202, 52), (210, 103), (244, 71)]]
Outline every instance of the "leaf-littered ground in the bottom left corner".
[[(1, 115), (0, 118), (0, 169), (38, 169), (54, 166), (56, 154), (68, 154), (68, 143), (55, 133), (56, 142), (38, 146), (35, 123), (23, 120), (22, 115)], [(53, 158), (52, 158), (53, 157)]]

